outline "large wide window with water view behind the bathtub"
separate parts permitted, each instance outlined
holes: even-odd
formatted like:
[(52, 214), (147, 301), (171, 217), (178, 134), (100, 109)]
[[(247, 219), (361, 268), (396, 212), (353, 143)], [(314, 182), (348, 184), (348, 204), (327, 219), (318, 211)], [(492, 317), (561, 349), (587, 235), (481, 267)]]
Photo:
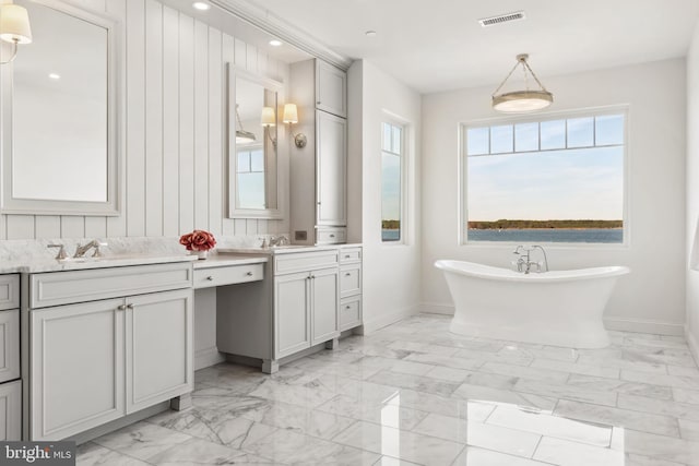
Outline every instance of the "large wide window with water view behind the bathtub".
[(624, 242), (626, 110), (465, 126), (464, 238)]

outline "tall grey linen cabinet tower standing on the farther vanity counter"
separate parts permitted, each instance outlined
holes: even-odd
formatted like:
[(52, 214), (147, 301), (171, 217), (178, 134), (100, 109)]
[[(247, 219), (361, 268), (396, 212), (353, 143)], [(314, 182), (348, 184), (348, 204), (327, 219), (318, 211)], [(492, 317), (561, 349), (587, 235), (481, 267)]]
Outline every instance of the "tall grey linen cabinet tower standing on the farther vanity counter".
[[(291, 228), (295, 243), (346, 242), (347, 74), (319, 59), (291, 67), (291, 99), (308, 136), (291, 151)], [(292, 143), (293, 144), (293, 143)]]

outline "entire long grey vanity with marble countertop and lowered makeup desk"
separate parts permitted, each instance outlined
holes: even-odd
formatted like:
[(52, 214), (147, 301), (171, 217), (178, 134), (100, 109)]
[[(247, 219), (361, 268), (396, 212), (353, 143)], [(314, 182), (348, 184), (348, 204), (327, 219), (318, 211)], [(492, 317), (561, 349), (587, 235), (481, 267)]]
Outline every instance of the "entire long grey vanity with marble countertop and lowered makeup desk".
[(82, 442), (189, 407), (194, 291), (215, 292), (217, 350), (269, 373), (362, 324), (360, 246), (233, 252), (3, 266), (0, 440)]

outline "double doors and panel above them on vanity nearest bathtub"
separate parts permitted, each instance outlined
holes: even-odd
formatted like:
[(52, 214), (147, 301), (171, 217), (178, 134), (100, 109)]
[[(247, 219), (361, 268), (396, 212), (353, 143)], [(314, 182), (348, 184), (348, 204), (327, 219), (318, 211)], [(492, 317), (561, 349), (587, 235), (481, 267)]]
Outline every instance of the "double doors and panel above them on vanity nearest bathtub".
[(274, 256), (274, 359), (336, 338), (337, 250)]

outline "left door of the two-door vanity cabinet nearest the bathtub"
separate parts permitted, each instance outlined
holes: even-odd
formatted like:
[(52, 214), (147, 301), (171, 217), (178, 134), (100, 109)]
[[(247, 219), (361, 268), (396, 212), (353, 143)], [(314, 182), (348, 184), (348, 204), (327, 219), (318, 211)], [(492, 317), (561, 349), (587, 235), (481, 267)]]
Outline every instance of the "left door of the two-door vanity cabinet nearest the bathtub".
[(275, 359), (310, 347), (308, 272), (274, 277)]

